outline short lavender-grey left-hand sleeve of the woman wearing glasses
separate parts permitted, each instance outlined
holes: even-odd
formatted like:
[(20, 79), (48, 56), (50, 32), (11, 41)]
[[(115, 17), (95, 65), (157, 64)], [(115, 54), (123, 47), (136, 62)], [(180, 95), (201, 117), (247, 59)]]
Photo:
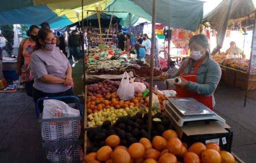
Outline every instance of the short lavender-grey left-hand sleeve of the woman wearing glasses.
[(42, 60), (35, 54), (31, 55), (30, 68), (35, 79), (39, 79), (42, 76), (48, 74), (46, 66), (44, 65)]

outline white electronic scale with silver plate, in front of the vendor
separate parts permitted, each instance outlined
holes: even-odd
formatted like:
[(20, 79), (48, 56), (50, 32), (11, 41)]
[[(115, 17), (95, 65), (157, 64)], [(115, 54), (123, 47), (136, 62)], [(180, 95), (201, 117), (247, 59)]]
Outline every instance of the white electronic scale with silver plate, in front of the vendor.
[(223, 124), (226, 123), (225, 119), (194, 98), (168, 98), (168, 101), (165, 105), (165, 111), (180, 127), (187, 122), (202, 120), (206, 122), (217, 120)]

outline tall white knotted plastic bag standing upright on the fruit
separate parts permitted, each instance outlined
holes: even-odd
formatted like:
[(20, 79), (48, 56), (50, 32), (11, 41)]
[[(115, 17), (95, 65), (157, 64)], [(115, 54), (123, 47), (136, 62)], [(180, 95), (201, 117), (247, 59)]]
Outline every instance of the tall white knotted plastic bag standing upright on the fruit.
[[(125, 79), (126, 78), (126, 79)], [(129, 75), (127, 72), (123, 73), (123, 78), (121, 80), (120, 86), (118, 88), (118, 96), (120, 100), (131, 100), (134, 96), (134, 82), (129, 80)]]

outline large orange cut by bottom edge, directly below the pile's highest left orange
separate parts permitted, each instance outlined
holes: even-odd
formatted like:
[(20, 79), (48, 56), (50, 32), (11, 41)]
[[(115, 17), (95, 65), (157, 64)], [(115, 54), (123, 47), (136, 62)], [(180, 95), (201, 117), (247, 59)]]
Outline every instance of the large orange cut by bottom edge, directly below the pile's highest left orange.
[(130, 163), (131, 156), (129, 155), (127, 150), (118, 148), (112, 153), (111, 160), (112, 163)]

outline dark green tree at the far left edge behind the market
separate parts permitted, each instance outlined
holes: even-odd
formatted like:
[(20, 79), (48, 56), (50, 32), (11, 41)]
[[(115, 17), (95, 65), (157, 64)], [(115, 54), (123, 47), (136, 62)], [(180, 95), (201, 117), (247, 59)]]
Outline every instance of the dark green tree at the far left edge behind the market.
[(13, 42), (14, 42), (14, 31), (12, 24), (6, 24), (0, 26), (1, 33), (7, 39), (5, 51), (8, 53), (9, 56), (13, 53)]

